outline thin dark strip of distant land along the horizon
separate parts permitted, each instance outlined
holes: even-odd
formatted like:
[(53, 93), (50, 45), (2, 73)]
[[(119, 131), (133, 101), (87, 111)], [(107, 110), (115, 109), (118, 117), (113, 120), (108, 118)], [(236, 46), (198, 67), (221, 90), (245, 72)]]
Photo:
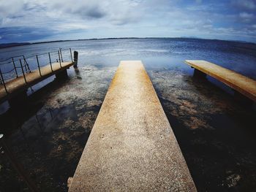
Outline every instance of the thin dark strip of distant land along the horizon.
[(7, 47), (18, 47), (23, 45), (34, 45), (34, 44), (43, 44), (43, 43), (52, 43), (52, 42), (75, 42), (75, 41), (108, 40), (108, 39), (198, 39), (198, 40), (206, 40), (206, 41), (240, 42), (240, 43), (256, 44), (255, 42), (222, 40), (222, 39), (202, 39), (197, 37), (110, 37), (110, 38), (92, 38), (92, 39), (66, 39), (66, 40), (55, 40), (55, 41), (47, 41), (47, 42), (10, 42), (10, 43), (0, 44), (0, 49), (7, 48)]

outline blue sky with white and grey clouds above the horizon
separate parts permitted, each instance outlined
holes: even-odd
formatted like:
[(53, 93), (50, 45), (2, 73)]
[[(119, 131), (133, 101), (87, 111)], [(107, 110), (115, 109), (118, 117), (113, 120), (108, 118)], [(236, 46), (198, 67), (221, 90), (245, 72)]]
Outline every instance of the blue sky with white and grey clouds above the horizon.
[(256, 42), (256, 0), (0, 0), (0, 43), (110, 37)]

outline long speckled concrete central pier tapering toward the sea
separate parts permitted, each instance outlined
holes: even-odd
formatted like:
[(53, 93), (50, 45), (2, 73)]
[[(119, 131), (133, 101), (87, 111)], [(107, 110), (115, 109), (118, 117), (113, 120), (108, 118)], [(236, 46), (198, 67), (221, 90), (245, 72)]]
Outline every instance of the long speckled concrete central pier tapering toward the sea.
[(69, 191), (196, 191), (141, 61), (121, 61)]

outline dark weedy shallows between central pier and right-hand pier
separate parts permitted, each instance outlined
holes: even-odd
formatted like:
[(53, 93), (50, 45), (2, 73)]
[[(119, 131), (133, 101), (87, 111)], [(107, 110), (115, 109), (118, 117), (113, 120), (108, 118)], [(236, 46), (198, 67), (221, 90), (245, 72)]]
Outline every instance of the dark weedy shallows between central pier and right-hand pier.
[(208, 80), (149, 72), (198, 191), (253, 191), (255, 111)]

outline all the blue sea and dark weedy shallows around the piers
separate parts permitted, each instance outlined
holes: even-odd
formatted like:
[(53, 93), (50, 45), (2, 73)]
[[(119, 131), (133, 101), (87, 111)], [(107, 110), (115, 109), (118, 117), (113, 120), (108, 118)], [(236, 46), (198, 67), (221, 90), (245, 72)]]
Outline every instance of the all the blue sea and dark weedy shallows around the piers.
[[(0, 107), (1, 132), (41, 191), (67, 191), (67, 178), (75, 172), (121, 60), (142, 60), (146, 66), (198, 191), (255, 188), (255, 110), (237, 103), (230, 88), (217, 80), (193, 78), (184, 60), (211, 61), (256, 79), (256, 45), (105, 39), (11, 47), (0, 50), (0, 58), (59, 47), (78, 50), (78, 70), (69, 69), (63, 82), (51, 77), (34, 86), (26, 109)], [(28, 191), (4, 154), (0, 165), (0, 191)]]

